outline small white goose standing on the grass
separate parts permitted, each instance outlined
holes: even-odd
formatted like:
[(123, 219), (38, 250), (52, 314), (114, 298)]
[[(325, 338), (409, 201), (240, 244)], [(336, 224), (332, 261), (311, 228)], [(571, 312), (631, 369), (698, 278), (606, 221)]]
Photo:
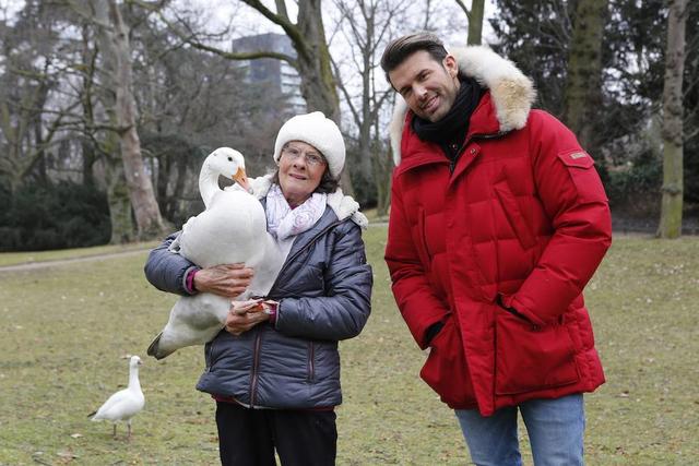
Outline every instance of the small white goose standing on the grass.
[(129, 360), (129, 386), (118, 391), (94, 413), (87, 415), (92, 420), (110, 420), (114, 423), (114, 438), (117, 438), (117, 422), (127, 422), (127, 440), (131, 439), (131, 418), (145, 405), (141, 383), (139, 382), (139, 366), (141, 358), (131, 356)]

